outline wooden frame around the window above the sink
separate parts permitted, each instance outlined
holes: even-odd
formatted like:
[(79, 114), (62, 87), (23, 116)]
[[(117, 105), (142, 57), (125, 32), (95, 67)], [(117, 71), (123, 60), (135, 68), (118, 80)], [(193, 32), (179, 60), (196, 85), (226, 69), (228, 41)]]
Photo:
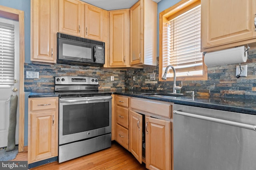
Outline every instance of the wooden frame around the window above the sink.
[[(167, 77), (166, 80), (162, 80), (162, 61), (163, 61), (163, 33), (164, 33), (164, 25), (166, 22), (170, 20), (170, 18), (175, 18), (180, 14), (198, 6), (201, 4), (201, 0), (181, 0), (174, 6), (160, 12), (159, 14), (159, 81), (173, 81), (173, 77)], [(201, 23), (202, 29), (202, 23)], [(202, 31), (201, 31), (202, 32)], [(202, 35), (202, 34), (201, 34)], [(202, 41), (202, 37), (201, 37)], [(207, 66), (204, 64), (204, 55), (203, 57), (203, 65), (202, 72), (203, 74), (200, 76), (177, 76), (176, 80), (207, 80)], [(172, 70), (170, 70), (172, 72)]]

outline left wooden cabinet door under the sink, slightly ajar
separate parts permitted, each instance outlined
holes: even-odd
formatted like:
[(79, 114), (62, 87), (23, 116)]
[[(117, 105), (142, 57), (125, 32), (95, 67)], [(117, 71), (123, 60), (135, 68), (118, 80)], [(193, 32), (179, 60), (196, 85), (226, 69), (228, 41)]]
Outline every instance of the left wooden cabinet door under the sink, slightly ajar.
[(129, 117), (129, 149), (134, 157), (142, 163), (142, 115), (130, 111)]

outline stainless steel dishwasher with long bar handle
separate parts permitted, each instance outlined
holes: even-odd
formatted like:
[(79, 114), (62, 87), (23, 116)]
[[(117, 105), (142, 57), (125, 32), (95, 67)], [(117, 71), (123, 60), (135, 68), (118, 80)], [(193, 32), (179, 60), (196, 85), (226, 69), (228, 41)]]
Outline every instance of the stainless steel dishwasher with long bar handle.
[(173, 106), (174, 170), (256, 170), (256, 115)]

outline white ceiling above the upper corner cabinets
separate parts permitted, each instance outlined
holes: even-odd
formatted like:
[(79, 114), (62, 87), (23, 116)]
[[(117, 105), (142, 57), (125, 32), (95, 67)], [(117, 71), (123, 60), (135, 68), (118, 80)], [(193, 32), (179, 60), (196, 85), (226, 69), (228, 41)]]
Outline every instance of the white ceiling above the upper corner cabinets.
[[(88, 4), (98, 6), (104, 10), (118, 10), (130, 8), (133, 4), (138, 2), (138, 0), (82, 0)], [(155, 2), (160, 2), (161, 0), (153, 0)]]

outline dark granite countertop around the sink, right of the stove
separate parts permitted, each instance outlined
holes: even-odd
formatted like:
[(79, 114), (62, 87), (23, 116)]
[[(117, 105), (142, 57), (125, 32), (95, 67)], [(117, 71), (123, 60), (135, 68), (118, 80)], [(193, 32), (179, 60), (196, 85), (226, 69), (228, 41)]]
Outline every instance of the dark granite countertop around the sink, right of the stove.
[(240, 98), (222, 98), (210, 96), (155, 97), (142, 95), (143, 93), (150, 92), (137, 91), (115, 91), (112, 93), (123, 96), (172, 102), (174, 104), (181, 104), (186, 106), (204, 107), (208, 109), (218, 109), (256, 115), (256, 100), (251, 99), (249, 100)]

